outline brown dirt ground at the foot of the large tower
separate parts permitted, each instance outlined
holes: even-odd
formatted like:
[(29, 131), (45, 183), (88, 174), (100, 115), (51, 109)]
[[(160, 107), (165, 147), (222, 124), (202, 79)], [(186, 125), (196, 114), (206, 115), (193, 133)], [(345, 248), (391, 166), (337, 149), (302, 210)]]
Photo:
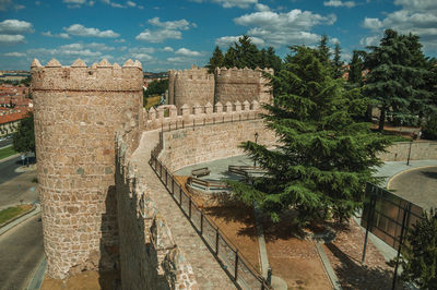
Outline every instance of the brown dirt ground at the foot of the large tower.
[[(46, 275), (42, 290), (113, 290), (115, 283), (119, 282), (119, 274), (114, 271), (97, 273), (83, 271), (63, 280), (52, 279)], [(117, 281), (118, 280), (118, 281)]]

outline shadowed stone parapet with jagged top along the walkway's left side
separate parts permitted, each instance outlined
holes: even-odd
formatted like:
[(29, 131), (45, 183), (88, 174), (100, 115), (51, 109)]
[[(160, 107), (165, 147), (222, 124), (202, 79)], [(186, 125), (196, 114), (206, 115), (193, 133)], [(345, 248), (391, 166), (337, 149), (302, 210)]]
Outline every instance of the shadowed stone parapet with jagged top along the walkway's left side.
[[(117, 136), (117, 209), (122, 289), (198, 289), (191, 268), (130, 164), (131, 136)], [(133, 147), (135, 148), (135, 147)], [(146, 161), (146, 160), (144, 160)]]

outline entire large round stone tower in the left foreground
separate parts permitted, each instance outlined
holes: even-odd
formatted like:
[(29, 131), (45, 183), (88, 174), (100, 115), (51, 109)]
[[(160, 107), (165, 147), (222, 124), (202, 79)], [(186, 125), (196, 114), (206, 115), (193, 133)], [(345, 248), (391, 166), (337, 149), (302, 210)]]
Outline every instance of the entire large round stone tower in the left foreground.
[(48, 275), (117, 268), (115, 132), (142, 126), (141, 65), (34, 60), (31, 74)]

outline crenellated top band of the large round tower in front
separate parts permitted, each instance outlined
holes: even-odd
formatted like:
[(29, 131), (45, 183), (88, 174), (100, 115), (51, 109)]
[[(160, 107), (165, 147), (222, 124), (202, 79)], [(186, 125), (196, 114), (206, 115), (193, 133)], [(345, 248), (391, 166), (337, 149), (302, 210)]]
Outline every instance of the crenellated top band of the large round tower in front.
[(34, 90), (98, 90), (137, 92), (142, 88), (141, 62), (128, 60), (122, 67), (103, 59), (87, 67), (81, 59), (71, 67), (62, 67), (51, 59), (46, 67), (34, 59), (31, 65), (32, 89)]

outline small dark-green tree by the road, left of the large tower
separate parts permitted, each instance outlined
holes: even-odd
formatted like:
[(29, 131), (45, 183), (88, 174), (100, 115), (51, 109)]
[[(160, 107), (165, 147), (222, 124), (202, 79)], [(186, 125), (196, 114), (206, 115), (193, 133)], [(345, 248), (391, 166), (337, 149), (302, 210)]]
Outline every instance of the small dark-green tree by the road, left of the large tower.
[(12, 145), (15, 152), (35, 153), (34, 114), (32, 112), (21, 120), (16, 133), (13, 136)]

